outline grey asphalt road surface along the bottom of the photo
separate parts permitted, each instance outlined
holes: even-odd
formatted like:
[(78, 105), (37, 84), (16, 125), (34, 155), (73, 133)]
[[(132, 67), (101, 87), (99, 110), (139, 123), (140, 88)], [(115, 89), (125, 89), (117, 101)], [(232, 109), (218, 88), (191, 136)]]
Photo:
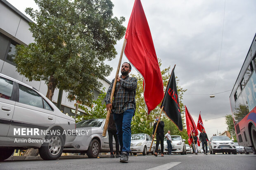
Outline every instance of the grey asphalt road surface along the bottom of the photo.
[(120, 163), (119, 158), (111, 159), (59, 159), (55, 161), (4, 161), (0, 170), (254, 170), (256, 155), (165, 155), (129, 156), (129, 163)]

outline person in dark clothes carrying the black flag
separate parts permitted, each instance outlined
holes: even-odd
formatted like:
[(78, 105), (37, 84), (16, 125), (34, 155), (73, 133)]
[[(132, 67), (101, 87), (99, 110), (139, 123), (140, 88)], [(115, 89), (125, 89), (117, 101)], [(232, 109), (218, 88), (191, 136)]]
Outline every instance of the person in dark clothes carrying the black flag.
[[(156, 130), (156, 124), (159, 122), (157, 130)], [(154, 153), (154, 156), (157, 156), (158, 146), (159, 142), (161, 142), (161, 156), (164, 156), (164, 122), (160, 121), (159, 117), (156, 116), (156, 122), (154, 123), (154, 130), (153, 130), (153, 138), (154, 138), (154, 132), (156, 130), (156, 152)]]

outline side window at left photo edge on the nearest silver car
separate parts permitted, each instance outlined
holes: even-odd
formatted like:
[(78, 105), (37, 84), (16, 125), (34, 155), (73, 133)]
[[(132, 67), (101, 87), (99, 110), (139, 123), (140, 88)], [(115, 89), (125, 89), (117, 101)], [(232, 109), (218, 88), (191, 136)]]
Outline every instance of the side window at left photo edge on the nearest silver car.
[(0, 77), (0, 97), (11, 99), (13, 81)]

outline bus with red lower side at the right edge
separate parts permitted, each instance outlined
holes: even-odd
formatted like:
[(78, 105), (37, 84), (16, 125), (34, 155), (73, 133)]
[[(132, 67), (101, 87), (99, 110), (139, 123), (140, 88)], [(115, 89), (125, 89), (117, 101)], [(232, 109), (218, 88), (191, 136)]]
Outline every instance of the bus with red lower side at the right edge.
[(256, 34), (229, 99), (237, 142), (256, 154)]

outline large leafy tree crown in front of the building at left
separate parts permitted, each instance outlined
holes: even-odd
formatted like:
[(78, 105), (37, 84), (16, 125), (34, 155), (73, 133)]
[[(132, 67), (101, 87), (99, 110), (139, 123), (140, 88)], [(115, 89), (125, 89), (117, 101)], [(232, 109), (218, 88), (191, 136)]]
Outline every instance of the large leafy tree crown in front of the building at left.
[[(69, 100), (90, 105), (99, 79), (112, 68), (104, 64), (116, 56), (114, 45), (126, 28), (124, 17), (113, 17), (111, 0), (35, 0), (38, 10), (26, 9), (35, 43), (17, 46), (17, 71), (29, 81), (44, 80), (52, 94), (57, 87)], [(52, 79), (49, 79), (49, 78)]]

